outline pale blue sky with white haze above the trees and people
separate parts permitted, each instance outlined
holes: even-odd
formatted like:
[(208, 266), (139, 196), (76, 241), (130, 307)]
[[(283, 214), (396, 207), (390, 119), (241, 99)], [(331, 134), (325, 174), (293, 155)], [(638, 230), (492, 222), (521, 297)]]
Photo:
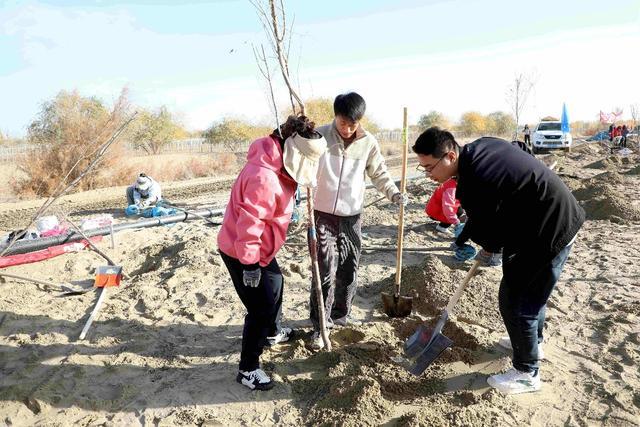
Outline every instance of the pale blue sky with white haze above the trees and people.
[[(368, 114), (397, 127), (429, 110), (508, 110), (516, 72), (536, 76), (524, 118), (595, 119), (640, 103), (640, 0), (367, 0), (286, 2), (292, 70), (304, 97), (356, 90)], [(167, 105), (191, 129), (225, 115), (270, 117), (252, 44), (264, 42), (239, 1), (0, 0), (0, 130), (25, 133), (60, 90), (146, 108)], [(615, 61), (614, 67), (612, 61)], [(278, 80), (279, 82), (279, 80)], [(278, 101), (285, 105), (279, 86)], [(628, 113), (626, 114), (628, 117)]]

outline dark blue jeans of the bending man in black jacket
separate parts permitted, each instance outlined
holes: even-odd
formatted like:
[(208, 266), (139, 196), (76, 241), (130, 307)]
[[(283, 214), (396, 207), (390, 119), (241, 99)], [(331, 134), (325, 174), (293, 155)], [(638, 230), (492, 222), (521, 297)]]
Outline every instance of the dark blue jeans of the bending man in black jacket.
[(543, 339), (547, 300), (562, 273), (571, 246), (542, 263), (532, 262), (530, 256), (523, 254), (505, 253), (503, 256), (498, 301), (513, 346), (513, 367), (519, 371), (538, 369), (538, 343)]

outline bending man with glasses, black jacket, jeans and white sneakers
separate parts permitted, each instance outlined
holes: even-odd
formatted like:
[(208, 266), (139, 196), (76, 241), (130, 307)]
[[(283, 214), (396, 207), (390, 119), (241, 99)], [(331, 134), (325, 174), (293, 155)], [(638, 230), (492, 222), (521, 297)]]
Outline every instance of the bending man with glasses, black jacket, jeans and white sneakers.
[[(585, 219), (569, 189), (532, 155), (498, 138), (460, 148), (437, 127), (416, 140), (413, 151), (427, 176), (457, 176), (456, 197), (467, 213), (464, 232), (482, 246), (479, 256), (502, 248), (500, 314), (513, 347), (513, 368), (487, 379), (503, 393), (537, 391), (538, 344), (545, 307)], [(475, 251), (459, 251), (457, 258)]]

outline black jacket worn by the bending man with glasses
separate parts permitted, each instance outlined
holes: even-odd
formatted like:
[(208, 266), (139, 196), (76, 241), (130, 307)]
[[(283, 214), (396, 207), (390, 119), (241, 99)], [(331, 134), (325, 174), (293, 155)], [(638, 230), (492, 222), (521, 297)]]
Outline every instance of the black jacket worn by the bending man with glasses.
[(464, 234), (490, 252), (557, 255), (576, 235), (584, 210), (558, 176), (499, 138), (465, 145), (456, 197), (467, 212)]

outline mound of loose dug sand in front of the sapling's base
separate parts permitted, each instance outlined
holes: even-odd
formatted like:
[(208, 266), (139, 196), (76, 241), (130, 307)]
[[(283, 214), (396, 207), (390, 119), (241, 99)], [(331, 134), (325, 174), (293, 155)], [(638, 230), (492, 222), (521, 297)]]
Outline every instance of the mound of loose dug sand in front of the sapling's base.
[(390, 360), (397, 345), (367, 338), (343, 328), (331, 336), (332, 353), (307, 354), (297, 341), (288, 352), (268, 354), (269, 368), (291, 387), (306, 425), (378, 425), (396, 401), (442, 391), (439, 379), (418, 379)]

